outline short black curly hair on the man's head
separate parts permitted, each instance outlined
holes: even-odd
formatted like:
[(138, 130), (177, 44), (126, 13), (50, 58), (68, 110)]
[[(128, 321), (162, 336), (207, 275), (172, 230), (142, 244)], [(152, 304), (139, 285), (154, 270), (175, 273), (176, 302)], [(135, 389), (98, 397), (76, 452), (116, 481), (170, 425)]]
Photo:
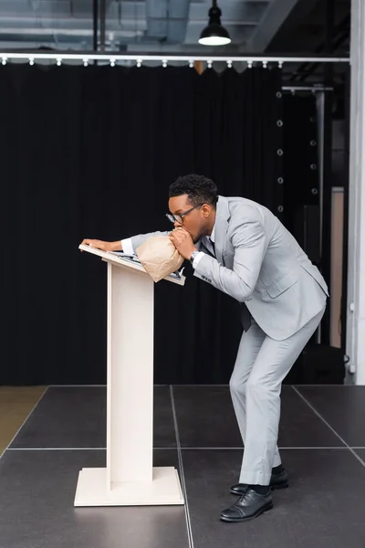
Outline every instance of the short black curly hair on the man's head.
[(183, 175), (170, 185), (169, 197), (187, 195), (192, 205), (209, 204), (215, 207), (218, 189), (214, 182), (203, 175)]

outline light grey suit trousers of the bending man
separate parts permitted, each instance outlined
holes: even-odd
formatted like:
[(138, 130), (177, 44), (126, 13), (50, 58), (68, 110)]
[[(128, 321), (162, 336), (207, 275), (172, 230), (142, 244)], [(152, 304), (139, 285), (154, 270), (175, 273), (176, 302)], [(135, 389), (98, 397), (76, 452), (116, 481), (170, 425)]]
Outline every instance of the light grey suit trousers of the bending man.
[(252, 320), (239, 345), (230, 389), (245, 444), (239, 483), (268, 485), (271, 469), (281, 463), (277, 449), (281, 384), (325, 308), (294, 335), (275, 341)]

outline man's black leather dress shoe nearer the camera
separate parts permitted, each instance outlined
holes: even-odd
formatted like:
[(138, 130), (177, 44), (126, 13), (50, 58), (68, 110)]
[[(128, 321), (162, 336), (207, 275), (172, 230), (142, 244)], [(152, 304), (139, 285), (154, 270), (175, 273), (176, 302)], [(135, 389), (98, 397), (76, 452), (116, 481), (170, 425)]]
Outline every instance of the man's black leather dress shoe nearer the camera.
[(223, 522), (249, 522), (272, 508), (271, 490), (267, 490), (266, 495), (259, 495), (255, 490), (247, 488), (245, 494), (233, 506), (221, 512), (221, 520)]

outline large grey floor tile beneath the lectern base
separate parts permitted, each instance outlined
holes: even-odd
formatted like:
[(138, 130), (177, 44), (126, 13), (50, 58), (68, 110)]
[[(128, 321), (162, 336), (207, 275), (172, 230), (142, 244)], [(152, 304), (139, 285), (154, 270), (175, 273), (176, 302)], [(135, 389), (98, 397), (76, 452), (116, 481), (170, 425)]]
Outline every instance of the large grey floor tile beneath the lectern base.
[[(176, 450), (155, 466), (178, 468)], [(78, 471), (105, 451), (6, 451), (0, 460), (0, 548), (188, 548), (183, 506), (74, 508)]]

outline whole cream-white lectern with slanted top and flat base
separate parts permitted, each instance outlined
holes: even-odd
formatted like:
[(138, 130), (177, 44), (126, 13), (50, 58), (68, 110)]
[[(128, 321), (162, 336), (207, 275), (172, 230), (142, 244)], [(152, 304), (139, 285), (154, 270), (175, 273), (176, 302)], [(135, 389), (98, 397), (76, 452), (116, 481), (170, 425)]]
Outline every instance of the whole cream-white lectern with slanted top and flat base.
[(154, 282), (140, 263), (79, 248), (108, 263), (107, 468), (79, 472), (74, 505), (183, 504), (177, 470), (152, 464)]

